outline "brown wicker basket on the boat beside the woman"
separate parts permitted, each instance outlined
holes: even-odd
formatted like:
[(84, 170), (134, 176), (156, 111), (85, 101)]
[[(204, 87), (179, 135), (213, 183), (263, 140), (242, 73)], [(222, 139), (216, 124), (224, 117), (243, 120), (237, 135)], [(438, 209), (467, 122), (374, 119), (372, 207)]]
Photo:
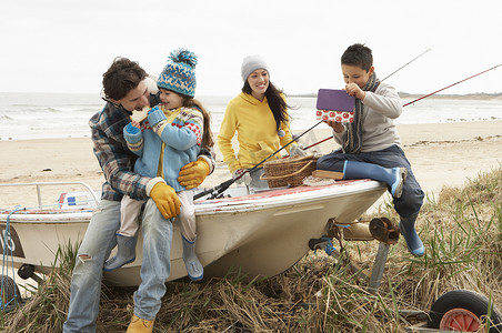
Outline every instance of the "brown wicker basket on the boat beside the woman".
[(299, 186), (315, 170), (317, 161), (313, 155), (270, 161), (263, 164), (261, 179), (268, 181), (269, 188)]

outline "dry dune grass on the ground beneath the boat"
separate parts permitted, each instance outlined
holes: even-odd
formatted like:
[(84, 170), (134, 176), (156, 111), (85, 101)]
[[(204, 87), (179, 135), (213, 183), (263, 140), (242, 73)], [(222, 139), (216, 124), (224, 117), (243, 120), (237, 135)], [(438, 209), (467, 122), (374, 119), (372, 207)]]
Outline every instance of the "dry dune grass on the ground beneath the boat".
[[(378, 216), (396, 222), (386, 205)], [(154, 332), (404, 332), (413, 322), (403, 310), (428, 312), (441, 294), (456, 289), (480, 292), (502, 306), (502, 168), (428, 198), (418, 230), (425, 255), (411, 256), (401, 238), (390, 248), (375, 295), (348, 262), (370, 275), (378, 243), (343, 242), (344, 260), (311, 251), (271, 279), (250, 282), (232, 274), (170, 282)], [(60, 268), (22, 306), (0, 314), (2, 332), (61, 332), (76, 249), (62, 249)], [(103, 287), (99, 332), (126, 331), (133, 291)]]

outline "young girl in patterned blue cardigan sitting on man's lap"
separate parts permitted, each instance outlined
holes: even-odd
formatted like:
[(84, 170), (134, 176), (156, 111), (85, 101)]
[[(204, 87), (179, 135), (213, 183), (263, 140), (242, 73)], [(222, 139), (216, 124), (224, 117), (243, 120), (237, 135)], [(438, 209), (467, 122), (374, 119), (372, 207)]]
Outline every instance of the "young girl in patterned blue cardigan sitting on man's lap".
[[(195, 94), (197, 57), (188, 50), (171, 52), (157, 85), (161, 103), (148, 112), (141, 124), (131, 121), (124, 128), (128, 148), (139, 158), (134, 172), (160, 178), (177, 191), (181, 202), (180, 230), (183, 261), (191, 280), (203, 278), (203, 268), (195, 254), (195, 212), (193, 193), (178, 182), (181, 167), (197, 160), (201, 147), (212, 148), (210, 118)], [(138, 216), (144, 201), (124, 195), (121, 205), (121, 228), (117, 233), (116, 256), (104, 263), (104, 270), (116, 270), (135, 259)]]

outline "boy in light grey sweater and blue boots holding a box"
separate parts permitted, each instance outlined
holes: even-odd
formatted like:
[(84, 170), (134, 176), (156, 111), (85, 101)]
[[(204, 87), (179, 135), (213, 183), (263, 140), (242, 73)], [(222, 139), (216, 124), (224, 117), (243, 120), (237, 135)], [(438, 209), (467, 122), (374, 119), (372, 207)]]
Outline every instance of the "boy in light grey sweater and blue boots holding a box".
[(424, 254), (414, 224), (423, 203), (423, 191), (401, 149), (393, 119), (402, 104), (393, 87), (376, 78), (371, 49), (349, 47), (341, 58), (345, 91), (355, 97), (354, 121), (328, 121), (342, 148), (318, 160), (318, 169), (343, 172), (343, 179), (369, 178), (385, 182), (400, 215), (399, 228), (413, 255)]

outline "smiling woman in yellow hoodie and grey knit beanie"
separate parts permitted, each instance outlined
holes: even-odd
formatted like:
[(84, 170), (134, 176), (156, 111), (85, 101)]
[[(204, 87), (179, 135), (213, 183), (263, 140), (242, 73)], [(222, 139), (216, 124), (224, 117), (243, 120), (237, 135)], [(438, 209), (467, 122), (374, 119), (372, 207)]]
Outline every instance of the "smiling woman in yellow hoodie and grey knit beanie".
[[(248, 172), (273, 152), (291, 142), (285, 97), (270, 82), (269, 68), (260, 56), (245, 57), (241, 68), (244, 87), (242, 92), (229, 102), (218, 135), (218, 145), (223, 162), (229, 167), (238, 183), (254, 189), (268, 189), (261, 180), (263, 168)], [(239, 152), (232, 148), (232, 138), (238, 132)], [(285, 148), (291, 155), (303, 154), (298, 144)], [(279, 155), (270, 160), (279, 159)]]

